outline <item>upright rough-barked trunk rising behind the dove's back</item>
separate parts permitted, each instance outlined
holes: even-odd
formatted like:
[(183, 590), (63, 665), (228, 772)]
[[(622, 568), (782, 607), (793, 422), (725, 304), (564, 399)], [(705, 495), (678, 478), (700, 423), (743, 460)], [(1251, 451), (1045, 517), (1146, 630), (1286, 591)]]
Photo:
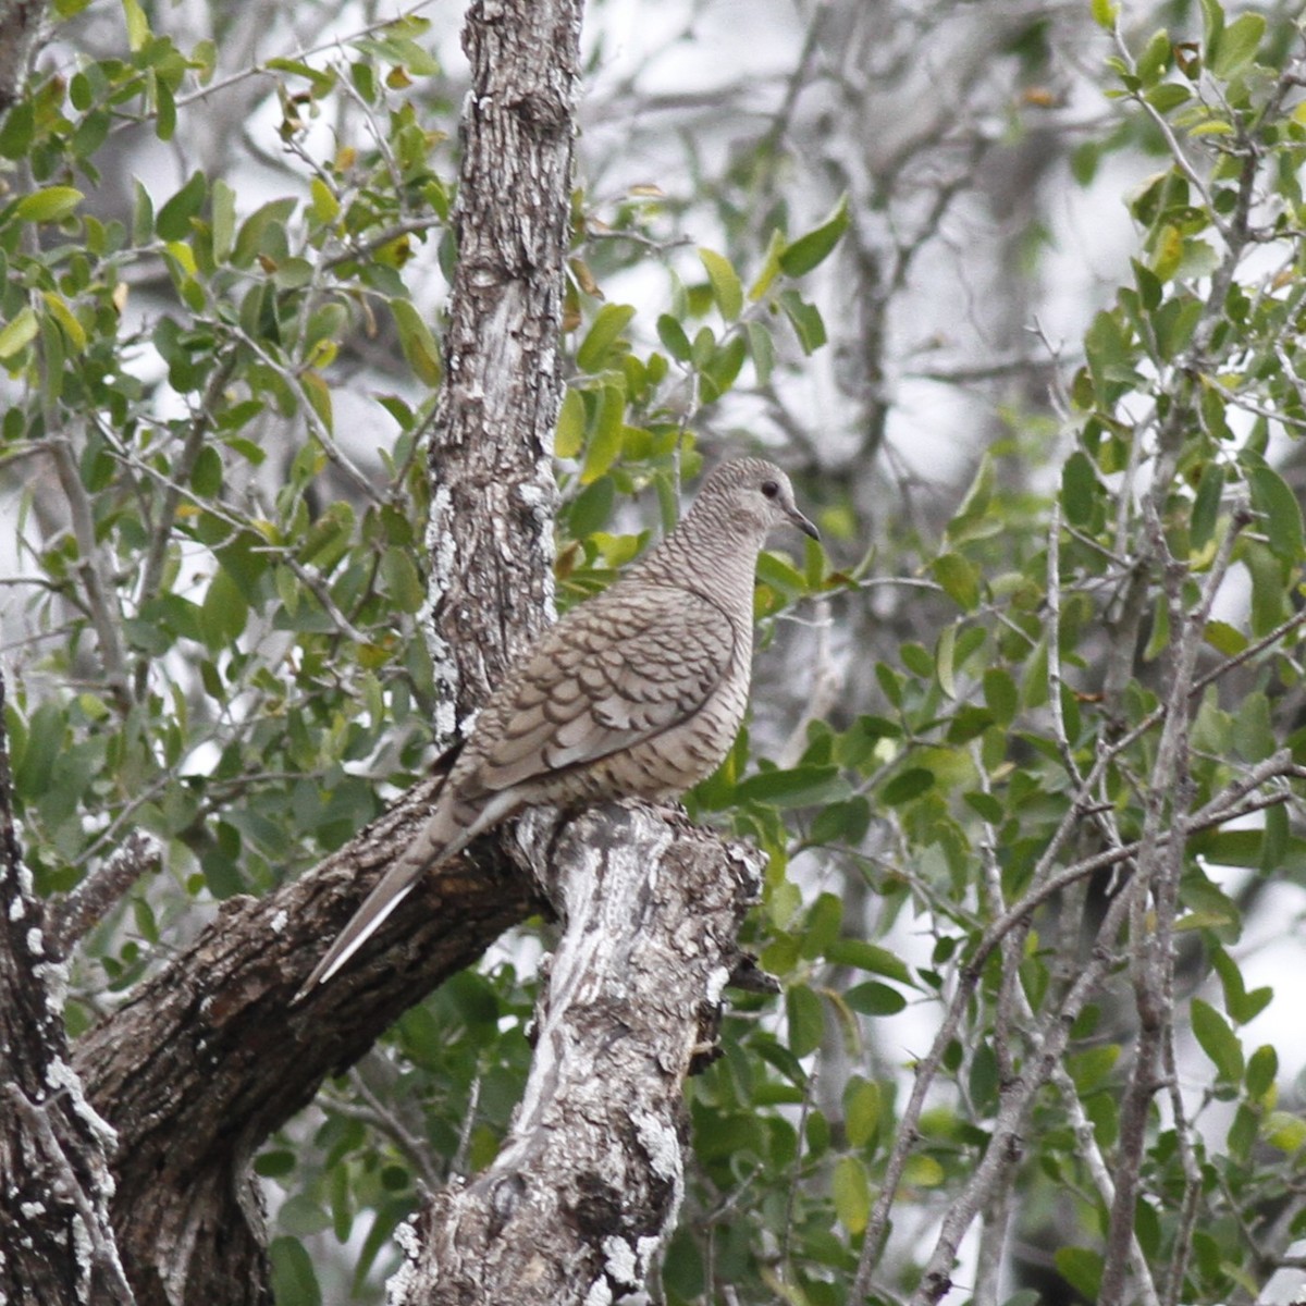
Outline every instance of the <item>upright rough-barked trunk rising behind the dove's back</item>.
[(430, 460), (441, 731), (550, 616), (580, 14), (580, 0), (481, 0), (462, 34), (458, 263)]

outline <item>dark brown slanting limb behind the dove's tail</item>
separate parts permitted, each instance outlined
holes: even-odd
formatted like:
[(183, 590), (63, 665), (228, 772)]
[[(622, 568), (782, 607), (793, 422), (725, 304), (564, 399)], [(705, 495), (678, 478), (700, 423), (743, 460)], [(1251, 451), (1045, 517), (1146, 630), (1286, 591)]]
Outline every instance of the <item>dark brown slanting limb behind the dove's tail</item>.
[(357, 964), (291, 995), (424, 819), (439, 780), (304, 879), (232, 899), (195, 946), (78, 1041), (74, 1064), (118, 1131), (112, 1203), (140, 1306), (272, 1301), (249, 1160), (394, 1019), (533, 909), (492, 852), (431, 875)]

